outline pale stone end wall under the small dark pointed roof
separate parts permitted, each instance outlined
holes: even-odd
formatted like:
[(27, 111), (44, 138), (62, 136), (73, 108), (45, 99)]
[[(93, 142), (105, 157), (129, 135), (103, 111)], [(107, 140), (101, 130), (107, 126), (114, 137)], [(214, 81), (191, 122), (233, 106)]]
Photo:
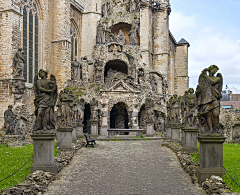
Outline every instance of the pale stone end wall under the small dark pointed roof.
[(189, 87), (188, 77), (188, 44), (179, 45), (176, 48), (175, 58), (175, 93), (184, 95)]

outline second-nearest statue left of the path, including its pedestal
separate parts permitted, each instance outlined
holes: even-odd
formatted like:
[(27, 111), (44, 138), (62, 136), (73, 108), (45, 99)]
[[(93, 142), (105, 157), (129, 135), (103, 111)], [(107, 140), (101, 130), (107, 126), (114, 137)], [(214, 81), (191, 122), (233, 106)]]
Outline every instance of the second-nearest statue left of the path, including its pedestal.
[(74, 96), (72, 92), (66, 87), (60, 92), (57, 103), (57, 145), (60, 150), (72, 150), (72, 132), (73, 132), (73, 118), (74, 118)]

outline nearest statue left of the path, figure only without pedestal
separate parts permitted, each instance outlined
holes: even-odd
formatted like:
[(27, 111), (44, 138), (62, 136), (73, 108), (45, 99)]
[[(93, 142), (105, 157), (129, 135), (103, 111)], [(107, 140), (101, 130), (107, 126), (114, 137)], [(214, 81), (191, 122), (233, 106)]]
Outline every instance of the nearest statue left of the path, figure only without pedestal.
[[(55, 133), (54, 106), (57, 101), (57, 82), (54, 75), (47, 79), (48, 72), (41, 69), (34, 78), (36, 123), (33, 131)], [(41, 79), (38, 79), (38, 76)]]

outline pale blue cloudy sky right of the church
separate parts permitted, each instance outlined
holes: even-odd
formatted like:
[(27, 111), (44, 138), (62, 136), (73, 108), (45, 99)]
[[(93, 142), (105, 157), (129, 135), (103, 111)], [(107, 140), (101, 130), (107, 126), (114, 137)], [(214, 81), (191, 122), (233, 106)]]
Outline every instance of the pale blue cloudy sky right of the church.
[(170, 30), (190, 43), (189, 87), (204, 68), (215, 64), (224, 87), (240, 89), (240, 0), (170, 0)]

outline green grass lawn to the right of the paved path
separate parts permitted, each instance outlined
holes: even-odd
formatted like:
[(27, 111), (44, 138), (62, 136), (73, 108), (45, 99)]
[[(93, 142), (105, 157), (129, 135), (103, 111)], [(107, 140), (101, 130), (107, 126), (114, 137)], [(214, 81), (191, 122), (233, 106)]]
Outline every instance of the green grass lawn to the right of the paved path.
[[(191, 154), (191, 156), (197, 161), (199, 159), (199, 152)], [(240, 144), (223, 144), (223, 166), (240, 185)], [(227, 174), (223, 177), (223, 180), (234, 192), (240, 193), (240, 187)]]

